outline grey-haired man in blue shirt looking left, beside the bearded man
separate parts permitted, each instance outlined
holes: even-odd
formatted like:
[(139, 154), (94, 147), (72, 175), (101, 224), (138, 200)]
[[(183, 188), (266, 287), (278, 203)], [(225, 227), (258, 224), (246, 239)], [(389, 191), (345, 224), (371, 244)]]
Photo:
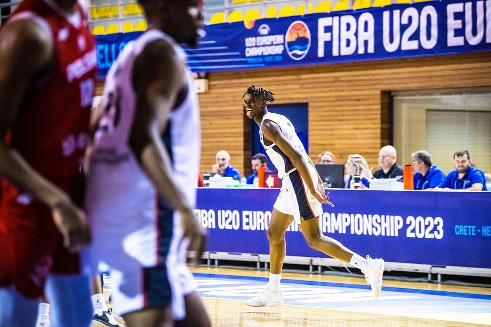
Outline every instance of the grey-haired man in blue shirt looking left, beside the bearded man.
[(413, 189), (435, 188), (445, 179), (445, 173), (438, 166), (432, 166), (431, 154), (420, 150), (411, 154), (414, 169)]

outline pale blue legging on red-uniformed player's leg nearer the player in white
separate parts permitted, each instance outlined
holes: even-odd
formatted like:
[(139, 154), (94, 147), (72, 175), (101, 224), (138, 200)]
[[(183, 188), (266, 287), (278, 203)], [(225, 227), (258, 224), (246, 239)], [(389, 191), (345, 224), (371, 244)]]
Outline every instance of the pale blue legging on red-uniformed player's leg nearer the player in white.
[(46, 295), (53, 309), (52, 327), (90, 325), (94, 310), (88, 275), (53, 274), (46, 283)]

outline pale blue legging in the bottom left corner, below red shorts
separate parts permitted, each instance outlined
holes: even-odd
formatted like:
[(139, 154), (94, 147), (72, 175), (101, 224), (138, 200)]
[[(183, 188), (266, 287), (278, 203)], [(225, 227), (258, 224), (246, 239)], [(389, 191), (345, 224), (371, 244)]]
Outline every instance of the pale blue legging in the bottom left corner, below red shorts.
[(14, 286), (0, 288), (0, 327), (34, 326), (38, 299), (28, 299)]

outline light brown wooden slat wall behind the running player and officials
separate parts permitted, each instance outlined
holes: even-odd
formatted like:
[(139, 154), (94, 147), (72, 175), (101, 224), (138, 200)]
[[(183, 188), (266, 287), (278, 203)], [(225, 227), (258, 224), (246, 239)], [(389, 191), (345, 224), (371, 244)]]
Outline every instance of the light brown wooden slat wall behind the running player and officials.
[(250, 172), (242, 95), (252, 83), (275, 93), (276, 103), (308, 102), (314, 162), (322, 151), (342, 163), (360, 153), (377, 169), (378, 151), (390, 140), (390, 92), (491, 87), (491, 52), (211, 73), (209, 92), (199, 94), (201, 172), (211, 170), (222, 149), (241, 173)]

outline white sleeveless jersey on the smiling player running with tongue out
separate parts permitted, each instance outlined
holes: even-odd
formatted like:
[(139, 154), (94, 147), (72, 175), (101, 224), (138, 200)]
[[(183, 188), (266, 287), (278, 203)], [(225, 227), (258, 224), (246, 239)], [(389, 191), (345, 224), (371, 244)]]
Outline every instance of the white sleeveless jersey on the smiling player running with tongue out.
[(273, 143), (266, 146), (264, 144), (263, 132), (261, 131), (261, 127), (265, 120), (270, 120), (278, 124), (278, 126), (281, 128), (281, 132), (283, 133), (285, 138), (290, 141), (293, 147), (297, 149), (297, 151), (299, 151), (300, 154), (304, 156), (307, 160), (309, 156), (307, 155), (307, 152), (305, 152), (305, 148), (303, 147), (302, 142), (297, 136), (297, 133), (295, 132), (295, 127), (290, 122), (290, 120), (288, 120), (288, 118), (283, 115), (274, 114), (272, 112), (266, 113), (266, 115), (264, 115), (263, 117), (263, 121), (261, 122), (261, 126), (259, 126), (259, 139), (261, 140), (261, 144), (263, 145), (264, 149), (266, 149), (266, 153), (270, 157), (271, 162), (273, 162), (274, 167), (276, 167), (276, 169), (278, 170), (278, 177), (283, 178), (285, 174), (291, 173), (296, 168), (293, 166), (290, 158), (285, 153), (283, 153), (283, 151), (281, 151), (277, 145)]

